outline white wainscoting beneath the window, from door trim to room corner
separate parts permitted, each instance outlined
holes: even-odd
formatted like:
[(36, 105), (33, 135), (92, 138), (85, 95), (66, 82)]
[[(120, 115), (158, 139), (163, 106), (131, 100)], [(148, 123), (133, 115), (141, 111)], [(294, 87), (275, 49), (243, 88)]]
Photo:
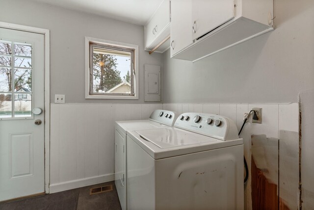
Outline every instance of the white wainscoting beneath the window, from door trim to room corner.
[(162, 104), (51, 104), (50, 193), (114, 180), (114, 122)]

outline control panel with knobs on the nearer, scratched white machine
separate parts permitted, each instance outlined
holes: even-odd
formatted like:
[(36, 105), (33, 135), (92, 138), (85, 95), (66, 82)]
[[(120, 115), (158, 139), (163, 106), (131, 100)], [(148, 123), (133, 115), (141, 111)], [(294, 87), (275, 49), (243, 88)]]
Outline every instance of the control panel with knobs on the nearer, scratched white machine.
[(239, 138), (235, 122), (228, 117), (216, 114), (183, 113), (176, 120), (174, 127), (224, 141)]

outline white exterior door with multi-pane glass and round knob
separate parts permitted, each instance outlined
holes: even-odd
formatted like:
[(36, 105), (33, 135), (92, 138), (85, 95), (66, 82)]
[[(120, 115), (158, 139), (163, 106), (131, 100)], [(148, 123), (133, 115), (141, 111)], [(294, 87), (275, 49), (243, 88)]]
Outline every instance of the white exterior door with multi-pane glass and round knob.
[(0, 28), (0, 201), (44, 193), (44, 170), (44, 35)]

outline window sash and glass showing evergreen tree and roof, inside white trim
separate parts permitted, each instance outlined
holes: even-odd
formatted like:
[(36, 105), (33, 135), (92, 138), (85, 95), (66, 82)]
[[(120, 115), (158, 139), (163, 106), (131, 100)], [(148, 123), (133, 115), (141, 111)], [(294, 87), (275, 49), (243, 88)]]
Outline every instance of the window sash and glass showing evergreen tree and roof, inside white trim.
[(131, 67), (134, 50), (90, 43), (92, 84), (90, 93), (133, 95)]

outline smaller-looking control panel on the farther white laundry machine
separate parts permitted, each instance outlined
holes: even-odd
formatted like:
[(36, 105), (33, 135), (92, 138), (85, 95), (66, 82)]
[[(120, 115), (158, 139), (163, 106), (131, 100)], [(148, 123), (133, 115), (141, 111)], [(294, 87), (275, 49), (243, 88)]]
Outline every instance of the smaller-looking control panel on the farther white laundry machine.
[(178, 114), (174, 111), (156, 109), (155, 111), (152, 112), (149, 119), (157, 123), (164, 124), (166, 126), (173, 126), (177, 117), (178, 117)]

